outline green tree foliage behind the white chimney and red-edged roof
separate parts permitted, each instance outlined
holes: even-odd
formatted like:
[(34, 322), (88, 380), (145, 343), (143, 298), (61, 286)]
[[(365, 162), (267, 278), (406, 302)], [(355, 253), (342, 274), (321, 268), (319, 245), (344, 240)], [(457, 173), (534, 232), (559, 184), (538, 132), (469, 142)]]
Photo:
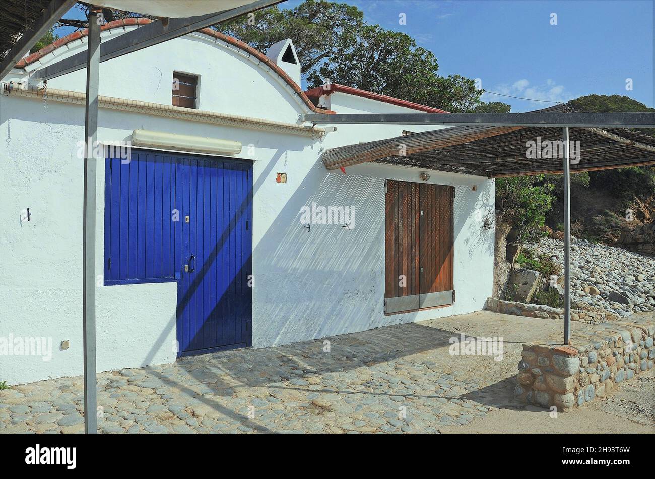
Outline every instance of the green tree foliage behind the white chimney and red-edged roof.
[[(479, 100), (484, 91), (472, 79), (438, 75), (432, 52), (405, 33), (367, 25), (362, 18), (352, 5), (305, 0), (293, 9), (269, 7), (215, 28), (263, 52), (290, 38), (310, 88), (340, 83), (453, 113), (485, 105)], [(509, 105), (489, 105), (509, 111)]]

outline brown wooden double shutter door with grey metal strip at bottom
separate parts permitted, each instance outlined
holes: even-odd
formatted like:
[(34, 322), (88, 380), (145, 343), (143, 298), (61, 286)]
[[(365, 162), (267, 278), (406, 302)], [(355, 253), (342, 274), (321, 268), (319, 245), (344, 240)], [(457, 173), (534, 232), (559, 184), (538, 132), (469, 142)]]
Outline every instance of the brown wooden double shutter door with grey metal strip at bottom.
[(453, 191), (387, 180), (385, 313), (453, 302)]

